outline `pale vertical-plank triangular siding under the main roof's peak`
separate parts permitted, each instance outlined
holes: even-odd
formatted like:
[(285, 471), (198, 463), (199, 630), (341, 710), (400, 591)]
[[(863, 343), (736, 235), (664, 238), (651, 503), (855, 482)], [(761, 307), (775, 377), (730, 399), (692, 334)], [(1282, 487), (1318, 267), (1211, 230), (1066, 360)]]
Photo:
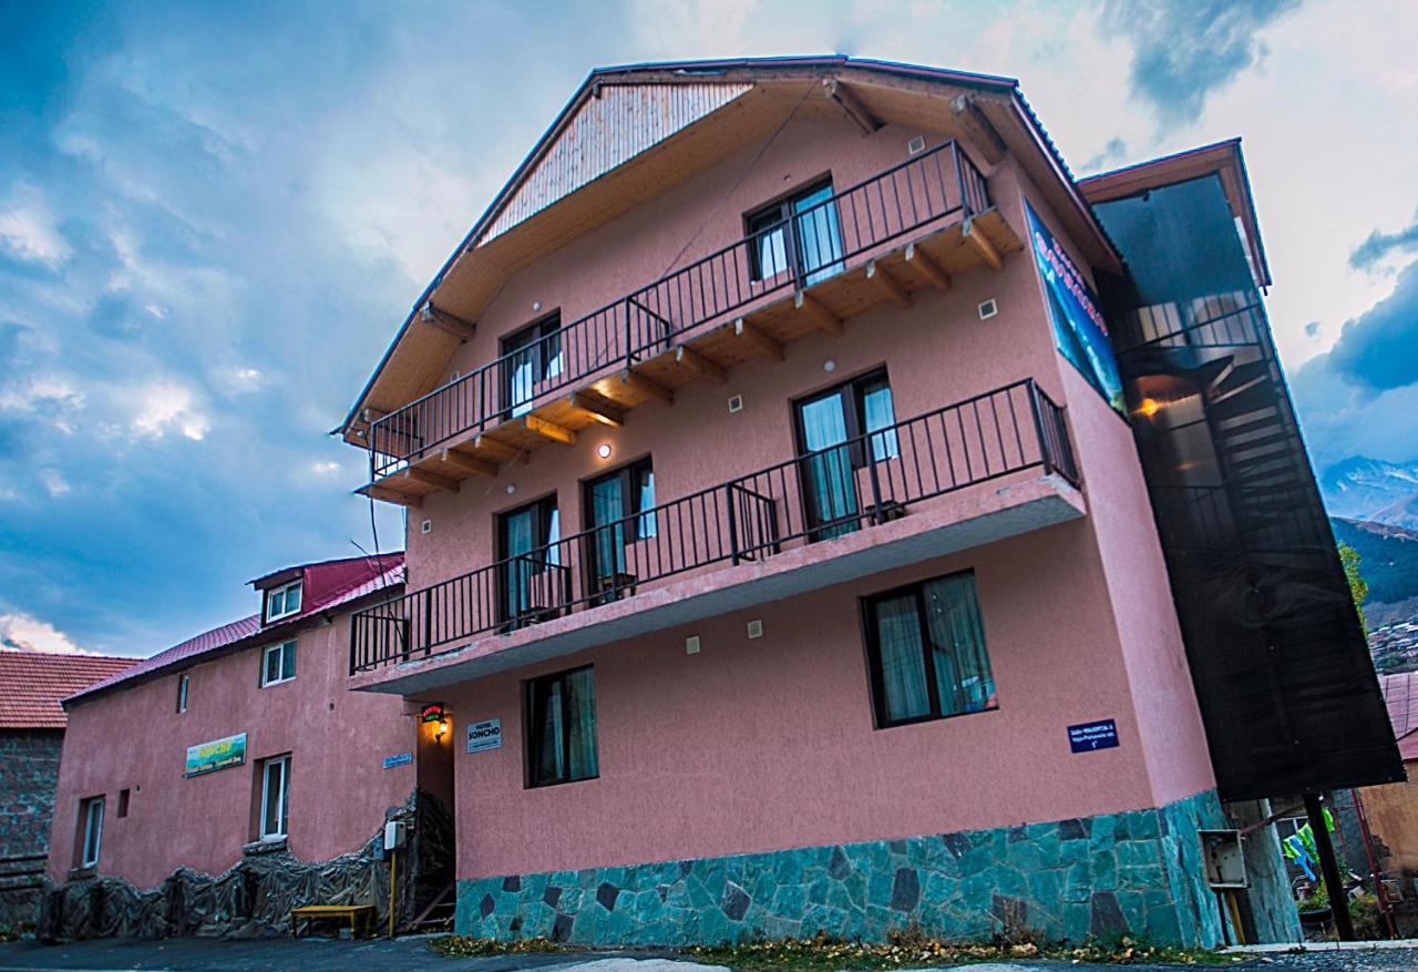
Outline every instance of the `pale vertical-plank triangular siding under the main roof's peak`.
[(603, 85), (566, 123), (478, 244), (506, 233), (752, 88), (752, 84), (723, 82)]

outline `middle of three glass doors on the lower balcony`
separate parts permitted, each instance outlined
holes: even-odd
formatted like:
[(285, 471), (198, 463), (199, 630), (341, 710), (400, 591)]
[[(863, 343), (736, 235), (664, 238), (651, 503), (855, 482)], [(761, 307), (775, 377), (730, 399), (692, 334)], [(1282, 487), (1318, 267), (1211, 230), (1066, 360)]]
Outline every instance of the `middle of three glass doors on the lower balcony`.
[[(625, 563), (625, 545), (651, 539), (655, 524), (655, 470), (649, 460), (631, 463), (586, 484), (587, 580), (605, 600), (635, 583), (635, 558)], [(648, 511), (648, 512), (647, 512)]]

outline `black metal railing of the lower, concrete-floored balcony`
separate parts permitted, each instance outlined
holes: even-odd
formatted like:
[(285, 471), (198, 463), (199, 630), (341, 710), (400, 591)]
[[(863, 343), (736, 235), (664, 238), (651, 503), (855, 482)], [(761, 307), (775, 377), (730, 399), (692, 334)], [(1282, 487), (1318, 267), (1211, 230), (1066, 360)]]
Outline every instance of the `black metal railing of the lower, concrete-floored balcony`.
[(1029, 468), (1078, 484), (1064, 412), (1034, 379), (795, 455), (354, 614), (350, 671), (634, 596), (718, 563), (896, 519)]

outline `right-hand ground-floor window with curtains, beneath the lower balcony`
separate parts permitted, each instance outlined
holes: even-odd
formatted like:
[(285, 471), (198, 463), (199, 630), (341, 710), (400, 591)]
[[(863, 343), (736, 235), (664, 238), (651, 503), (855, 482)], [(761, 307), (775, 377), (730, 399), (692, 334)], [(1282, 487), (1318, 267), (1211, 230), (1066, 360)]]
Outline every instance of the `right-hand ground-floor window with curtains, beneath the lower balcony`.
[(876, 725), (997, 707), (973, 573), (864, 602)]

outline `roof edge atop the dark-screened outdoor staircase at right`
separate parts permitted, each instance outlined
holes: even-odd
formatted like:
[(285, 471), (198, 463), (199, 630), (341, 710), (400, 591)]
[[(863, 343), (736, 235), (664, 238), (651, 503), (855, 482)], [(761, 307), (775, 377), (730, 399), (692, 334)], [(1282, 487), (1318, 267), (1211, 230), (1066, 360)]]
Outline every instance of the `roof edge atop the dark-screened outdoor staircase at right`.
[(1241, 153), (1241, 139), (1227, 139), (1197, 149), (1187, 149), (1149, 162), (1103, 172), (1081, 179), (1078, 187), (1089, 203), (1106, 203), (1113, 199), (1137, 196), (1149, 189), (1190, 182), (1215, 173), (1227, 194), (1231, 216), (1239, 220), (1242, 243), (1256, 287), (1269, 287), (1271, 264), (1265, 258), (1265, 243), (1261, 240), (1261, 221), (1255, 214), (1255, 197), (1251, 194), (1251, 177), (1246, 175), (1245, 156)]

